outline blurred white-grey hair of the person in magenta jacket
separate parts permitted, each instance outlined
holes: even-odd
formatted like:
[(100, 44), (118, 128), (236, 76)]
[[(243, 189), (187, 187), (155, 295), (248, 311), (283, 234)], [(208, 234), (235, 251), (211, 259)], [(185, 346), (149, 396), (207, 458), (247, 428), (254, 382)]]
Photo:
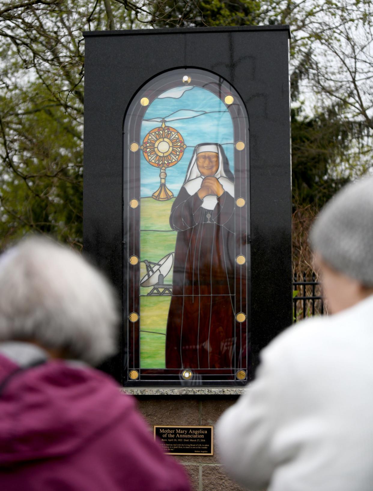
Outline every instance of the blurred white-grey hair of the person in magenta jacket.
[(97, 365), (115, 351), (117, 322), (111, 286), (77, 253), (34, 237), (0, 256), (2, 342), (33, 341)]

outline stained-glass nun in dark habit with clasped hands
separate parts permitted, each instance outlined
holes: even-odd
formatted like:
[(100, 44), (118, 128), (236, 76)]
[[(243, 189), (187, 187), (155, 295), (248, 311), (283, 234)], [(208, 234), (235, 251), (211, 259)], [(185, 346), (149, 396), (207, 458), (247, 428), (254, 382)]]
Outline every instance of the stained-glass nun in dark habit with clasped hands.
[(232, 367), (233, 181), (221, 145), (196, 146), (170, 215), (177, 239), (166, 368)]

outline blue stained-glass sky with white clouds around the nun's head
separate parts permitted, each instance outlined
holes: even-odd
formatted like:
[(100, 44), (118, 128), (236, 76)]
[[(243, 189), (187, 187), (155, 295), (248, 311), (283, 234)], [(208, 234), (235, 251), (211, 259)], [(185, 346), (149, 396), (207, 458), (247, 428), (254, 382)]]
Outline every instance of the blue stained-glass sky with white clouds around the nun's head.
[[(199, 143), (222, 144), (233, 172), (232, 119), (224, 102), (215, 94), (202, 87), (191, 88), (189, 85), (175, 87), (161, 94), (145, 113), (140, 144), (150, 130), (159, 126), (162, 118), (166, 119), (166, 124), (169, 121), (169, 126), (181, 134), (187, 145), (181, 160), (173, 167), (166, 168), (166, 185), (175, 196), (184, 182), (193, 149)], [(146, 121), (149, 119), (153, 121)], [(141, 152), (141, 197), (151, 196), (158, 189), (159, 170), (148, 164)]]

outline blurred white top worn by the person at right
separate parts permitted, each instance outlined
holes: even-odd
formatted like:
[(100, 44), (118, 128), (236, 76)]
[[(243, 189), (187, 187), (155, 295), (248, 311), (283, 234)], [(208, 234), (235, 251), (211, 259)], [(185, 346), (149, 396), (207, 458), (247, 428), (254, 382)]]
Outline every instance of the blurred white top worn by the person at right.
[(250, 490), (373, 490), (373, 297), (286, 329), (216, 441)]

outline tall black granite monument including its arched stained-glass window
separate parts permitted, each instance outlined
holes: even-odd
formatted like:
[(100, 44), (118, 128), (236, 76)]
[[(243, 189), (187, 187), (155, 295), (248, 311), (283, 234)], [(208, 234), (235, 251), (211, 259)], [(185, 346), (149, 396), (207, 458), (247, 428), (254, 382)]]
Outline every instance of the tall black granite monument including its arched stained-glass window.
[(84, 33), (84, 249), (126, 387), (243, 386), (292, 322), (289, 35)]

